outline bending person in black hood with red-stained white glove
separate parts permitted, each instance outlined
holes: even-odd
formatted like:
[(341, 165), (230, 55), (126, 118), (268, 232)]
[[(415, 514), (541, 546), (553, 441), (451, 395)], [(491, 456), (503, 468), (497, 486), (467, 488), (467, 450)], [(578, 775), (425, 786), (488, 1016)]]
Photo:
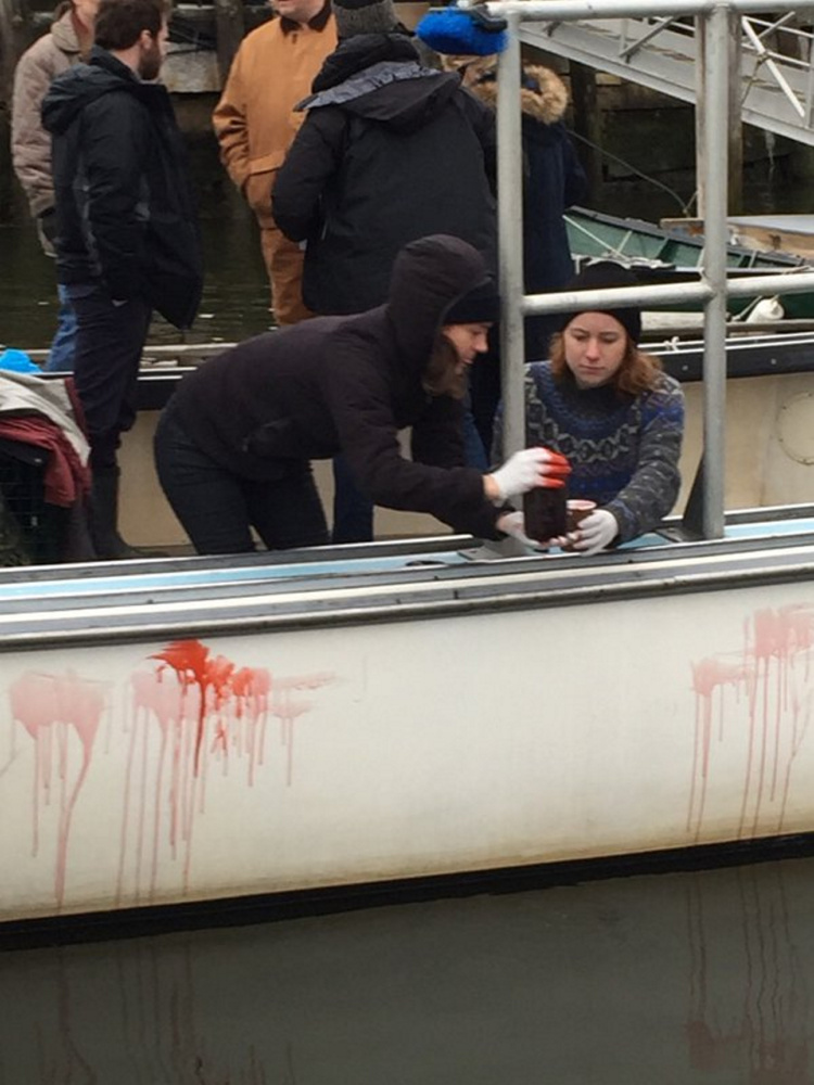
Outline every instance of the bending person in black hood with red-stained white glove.
[[(505, 502), (567, 467), (524, 449), (489, 474), (463, 467), (467, 368), (499, 298), (481, 254), (421, 238), (398, 254), (389, 301), (258, 335), (181, 381), (155, 434), (158, 478), (199, 553), (328, 541), (310, 460), (342, 451), (377, 503), (483, 538), (522, 535)], [(398, 431), (412, 426), (412, 460)]]

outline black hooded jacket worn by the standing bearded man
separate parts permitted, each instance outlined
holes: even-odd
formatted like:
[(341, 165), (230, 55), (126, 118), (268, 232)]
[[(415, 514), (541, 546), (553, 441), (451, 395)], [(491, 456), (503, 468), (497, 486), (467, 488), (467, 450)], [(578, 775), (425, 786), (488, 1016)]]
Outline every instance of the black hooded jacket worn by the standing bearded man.
[(104, 49), (58, 76), (42, 103), (53, 136), (58, 276), (101, 280), (192, 323), (203, 282), (198, 219), (169, 94)]

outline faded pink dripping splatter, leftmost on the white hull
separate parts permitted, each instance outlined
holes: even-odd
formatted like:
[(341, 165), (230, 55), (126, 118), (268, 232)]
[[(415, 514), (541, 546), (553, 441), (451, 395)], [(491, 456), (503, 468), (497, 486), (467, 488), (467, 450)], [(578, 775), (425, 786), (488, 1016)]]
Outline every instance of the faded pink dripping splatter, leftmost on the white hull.
[(58, 804), (54, 896), (61, 906), (71, 822), (90, 768), (105, 709), (105, 687), (71, 671), (63, 675), (29, 672), (12, 684), (9, 698), (14, 720), (34, 741), (34, 855), (40, 847), (42, 809)]

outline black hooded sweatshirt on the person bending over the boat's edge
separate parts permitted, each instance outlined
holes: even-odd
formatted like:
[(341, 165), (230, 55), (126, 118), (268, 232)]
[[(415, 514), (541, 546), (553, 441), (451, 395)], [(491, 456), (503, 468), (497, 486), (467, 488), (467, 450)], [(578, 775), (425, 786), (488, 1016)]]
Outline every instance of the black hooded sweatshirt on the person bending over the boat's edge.
[[(481, 472), (462, 467), (461, 401), (422, 384), (444, 312), (485, 275), (466, 242), (422, 238), (396, 258), (386, 305), (268, 332), (204, 362), (175, 394), (180, 422), (240, 477), (282, 477), (342, 451), (377, 505), (498, 538), (501, 510), (484, 498)], [(406, 426), (412, 460), (398, 444)]]

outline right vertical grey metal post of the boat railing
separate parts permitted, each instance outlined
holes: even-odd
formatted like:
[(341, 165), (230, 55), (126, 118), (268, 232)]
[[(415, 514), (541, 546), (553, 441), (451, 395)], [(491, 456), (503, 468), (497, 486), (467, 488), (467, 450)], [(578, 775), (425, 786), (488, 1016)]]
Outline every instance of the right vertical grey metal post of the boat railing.
[(703, 18), (703, 278), (714, 291), (704, 306), (703, 502), (705, 538), (724, 535), (726, 457), (726, 195), (729, 117), (729, 9)]

